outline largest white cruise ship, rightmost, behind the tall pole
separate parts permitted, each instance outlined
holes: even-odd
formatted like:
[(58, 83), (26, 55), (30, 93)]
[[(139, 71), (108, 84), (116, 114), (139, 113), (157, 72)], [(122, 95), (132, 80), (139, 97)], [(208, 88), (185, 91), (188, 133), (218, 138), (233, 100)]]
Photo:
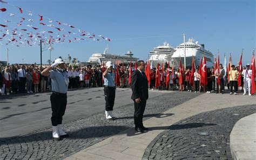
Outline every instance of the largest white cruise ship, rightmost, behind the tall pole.
[[(194, 39), (188, 39), (185, 43), (186, 46), (186, 68), (192, 67), (192, 56), (194, 56), (194, 62), (196, 66), (200, 66), (201, 57), (205, 55), (206, 66), (210, 68), (214, 66), (214, 55), (205, 49), (205, 45), (199, 45), (198, 41), (194, 42)], [(173, 53), (172, 59), (174, 60), (174, 66), (178, 67), (181, 59), (181, 63), (184, 64), (184, 43), (181, 43)]]

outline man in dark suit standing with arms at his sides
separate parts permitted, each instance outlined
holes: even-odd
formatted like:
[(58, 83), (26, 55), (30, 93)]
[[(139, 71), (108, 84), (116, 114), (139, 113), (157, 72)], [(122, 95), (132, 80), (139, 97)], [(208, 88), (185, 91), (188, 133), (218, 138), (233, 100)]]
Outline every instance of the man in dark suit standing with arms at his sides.
[(137, 70), (131, 76), (132, 100), (134, 101), (134, 124), (135, 130), (144, 133), (148, 128), (143, 126), (143, 113), (145, 111), (146, 102), (149, 98), (149, 86), (147, 85), (147, 77), (144, 72), (144, 61), (137, 62)]

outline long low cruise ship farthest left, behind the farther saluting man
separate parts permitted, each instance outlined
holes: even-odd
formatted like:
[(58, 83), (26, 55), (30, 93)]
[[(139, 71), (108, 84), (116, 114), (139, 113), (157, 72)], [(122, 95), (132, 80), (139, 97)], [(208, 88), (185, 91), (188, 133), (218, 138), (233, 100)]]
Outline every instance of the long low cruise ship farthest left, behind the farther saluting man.
[(102, 64), (103, 62), (106, 63), (107, 61), (115, 61), (115, 63), (125, 63), (130, 64), (138, 61), (138, 58), (133, 57), (133, 54), (131, 51), (127, 52), (124, 55), (116, 55), (116, 54), (109, 54), (107, 53), (108, 47), (104, 50), (104, 53), (94, 53), (89, 58), (88, 62), (90, 63), (99, 63)]

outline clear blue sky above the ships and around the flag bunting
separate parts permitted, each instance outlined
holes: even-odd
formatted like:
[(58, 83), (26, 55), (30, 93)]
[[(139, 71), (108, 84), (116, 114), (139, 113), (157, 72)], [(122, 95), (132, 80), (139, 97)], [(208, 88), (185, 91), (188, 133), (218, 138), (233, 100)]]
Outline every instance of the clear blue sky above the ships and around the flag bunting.
[[(93, 53), (103, 53), (108, 45), (109, 53), (125, 54), (129, 50), (142, 60), (149, 59), (149, 52), (166, 41), (177, 47), (183, 43), (183, 34), (205, 44), (205, 49), (214, 55), (232, 54), (232, 63), (240, 59), (250, 63), (253, 48), (256, 48), (256, 2), (241, 1), (127, 1), (127, 0), (4, 0), (20, 6), (23, 10), (40, 13), (44, 17), (58, 19), (90, 33), (104, 35), (111, 41), (81, 41), (76, 43), (55, 43), (51, 59), (58, 56), (76, 57), (87, 61)], [(0, 3), (0, 8), (9, 12), (14, 8)], [(17, 9), (16, 9), (17, 10)], [(2, 15), (1, 15), (2, 14)], [(3, 13), (0, 12), (2, 23)], [(16, 26), (14, 26), (16, 27)], [(0, 33), (1, 34), (1, 33)], [(0, 45), (0, 61), (6, 61), (9, 49), (9, 63), (39, 63), (38, 45), (16, 47)], [(50, 52), (43, 52), (43, 63), (49, 60)], [(228, 57), (227, 57), (228, 61)]]

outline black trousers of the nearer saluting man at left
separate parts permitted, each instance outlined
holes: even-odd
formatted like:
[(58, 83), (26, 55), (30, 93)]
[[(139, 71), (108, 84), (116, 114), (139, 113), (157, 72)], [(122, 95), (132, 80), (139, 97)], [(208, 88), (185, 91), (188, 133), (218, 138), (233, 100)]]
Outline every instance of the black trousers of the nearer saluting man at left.
[(50, 99), (52, 110), (51, 123), (52, 126), (57, 126), (62, 124), (62, 117), (66, 111), (67, 97), (66, 94), (52, 93)]

